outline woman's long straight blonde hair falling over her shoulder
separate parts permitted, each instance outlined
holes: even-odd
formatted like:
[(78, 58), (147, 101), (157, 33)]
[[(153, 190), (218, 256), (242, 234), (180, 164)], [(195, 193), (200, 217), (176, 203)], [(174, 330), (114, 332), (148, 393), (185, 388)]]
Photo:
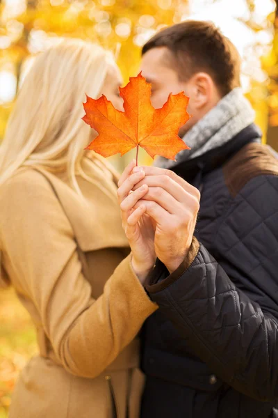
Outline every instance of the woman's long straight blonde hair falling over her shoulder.
[(99, 96), (111, 65), (110, 52), (77, 39), (61, 40), (35, 58), (0, 147), (0, 185), (19, 167), (40, 165), (65, 169), (79, 191), (76, 173), (88, 179), (81, 161), (94, 132), (81, 120), (82, 102), (85, 93)]

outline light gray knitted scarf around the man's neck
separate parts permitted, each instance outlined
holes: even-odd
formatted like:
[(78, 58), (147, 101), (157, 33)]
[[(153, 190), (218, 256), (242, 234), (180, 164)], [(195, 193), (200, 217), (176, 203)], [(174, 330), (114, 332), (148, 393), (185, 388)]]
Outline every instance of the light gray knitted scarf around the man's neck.
[(183, 137), (190, 150), (181, 151), (177, 161), (158, 157), (156, 167), (170, 169), (175, 165), (199, 157), (233, 139), (238, 132), (254, 122), (254, 110), (241, 88), (234, 88), (218, 102)]

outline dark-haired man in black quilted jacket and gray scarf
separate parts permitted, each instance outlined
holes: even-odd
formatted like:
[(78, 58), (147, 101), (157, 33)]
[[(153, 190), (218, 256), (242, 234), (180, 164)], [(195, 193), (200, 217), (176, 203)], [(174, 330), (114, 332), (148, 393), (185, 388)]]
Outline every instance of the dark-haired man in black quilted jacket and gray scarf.
[(147, 42), (142, 74), (154, 107), (183, 90), (193, 116), (180, 132), (190, 151), (119, 183), (126, 231), (143, 237), (140, 207), (156, 222), (141, 417), (278, 417), (278, 163), (238, 88), (238, 53), (213, 24), (187, 21)]

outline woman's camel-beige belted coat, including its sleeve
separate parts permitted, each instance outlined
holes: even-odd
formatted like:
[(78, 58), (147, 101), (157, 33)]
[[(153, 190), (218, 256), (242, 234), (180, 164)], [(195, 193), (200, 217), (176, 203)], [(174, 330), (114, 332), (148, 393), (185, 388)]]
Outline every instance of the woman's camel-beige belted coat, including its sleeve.
[[(38, 330), (10, 418), (137, 418), (144, 378), (136, 334), (156, 310), (130, 263), (116, 185), (19, 169), (0, 187), (2, 279)], [(60, 178), (59, 178), (60, 177)], [(126, 411), (128, 412), (128, 415)]]

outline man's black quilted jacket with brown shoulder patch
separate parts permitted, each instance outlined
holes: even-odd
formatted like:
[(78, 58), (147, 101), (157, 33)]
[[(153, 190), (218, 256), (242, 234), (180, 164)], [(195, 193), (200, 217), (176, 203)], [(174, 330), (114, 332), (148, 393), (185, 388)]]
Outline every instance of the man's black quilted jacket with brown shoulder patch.
[(147, 280), (142, 418), (278, 417), (278, 162), (258, 136), (174, 169), (201, 191), (200, 246)]

